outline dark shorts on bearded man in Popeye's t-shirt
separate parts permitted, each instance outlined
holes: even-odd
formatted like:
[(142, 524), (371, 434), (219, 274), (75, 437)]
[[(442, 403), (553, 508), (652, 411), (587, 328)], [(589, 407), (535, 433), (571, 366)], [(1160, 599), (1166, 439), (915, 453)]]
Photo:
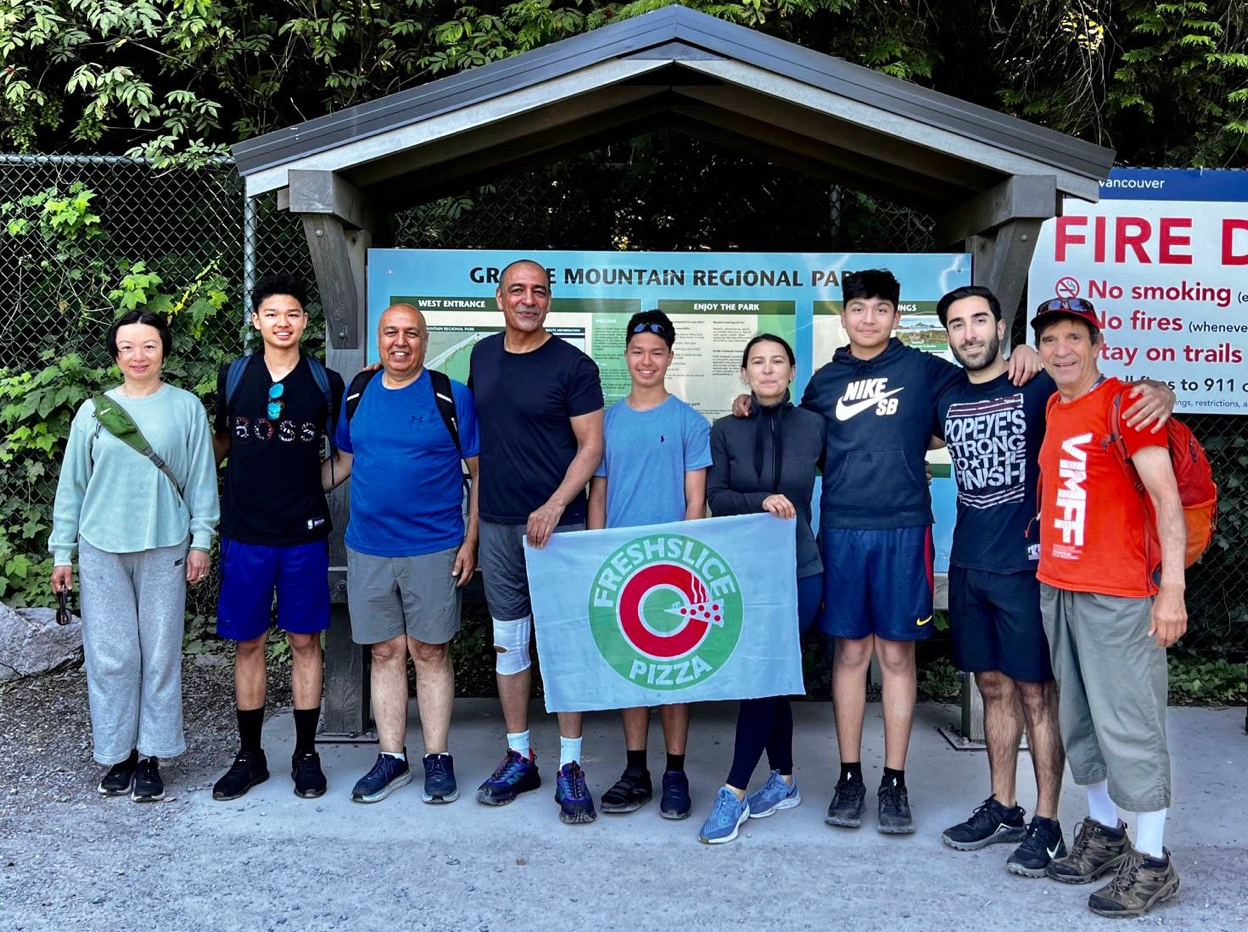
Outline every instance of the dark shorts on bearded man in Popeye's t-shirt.
[(1023, 682), (1053, 679), (1035, 573), (950, 566), (948, 626), (958, 670), (1000, 670)]

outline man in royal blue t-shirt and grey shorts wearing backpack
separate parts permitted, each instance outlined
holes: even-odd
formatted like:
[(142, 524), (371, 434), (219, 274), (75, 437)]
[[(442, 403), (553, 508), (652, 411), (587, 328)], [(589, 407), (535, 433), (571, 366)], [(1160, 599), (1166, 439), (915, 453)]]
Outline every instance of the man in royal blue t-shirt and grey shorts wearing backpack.
[[(348, 392), (338, 418), (333, 478), (351, 477), (351, 636), (372, 653), (381, 746), (373, 769), (352, 790), (354, 802), (378, 802), (412, 780), (403, 744), (408, 654), (424, 732), (422, 799), (459, 799), (447, 750), (454, 704), (449, 646), (459, 630), (459, 590), (477, 563), (477, 413), (472, 393), (452, 382), (457, 447), (424, 368), (427, 346), (419, 311), (409, 304), (386, 308), (377, 326), (381, 374), (363, 387), (353, 383), (351, 392), (359, 394)], [(472, 483), (467, 522), (462, 464)]]

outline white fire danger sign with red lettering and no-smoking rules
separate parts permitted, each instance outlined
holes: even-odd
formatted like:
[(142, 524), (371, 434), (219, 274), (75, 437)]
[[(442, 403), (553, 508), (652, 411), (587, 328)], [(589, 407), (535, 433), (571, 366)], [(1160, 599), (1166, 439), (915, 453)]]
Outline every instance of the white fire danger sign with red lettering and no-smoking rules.
[(1114, 168), (1098, 203), (1066, 198), (1028, 312), (1055, 294), (1096, 307), (1106, 374), (1166, 382), (1181, 412), (1248, 413), (1248, 171)]

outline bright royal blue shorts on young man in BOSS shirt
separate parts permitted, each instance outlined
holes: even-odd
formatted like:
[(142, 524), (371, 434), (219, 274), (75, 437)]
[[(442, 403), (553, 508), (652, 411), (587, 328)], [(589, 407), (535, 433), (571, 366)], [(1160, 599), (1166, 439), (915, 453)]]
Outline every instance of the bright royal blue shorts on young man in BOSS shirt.
[(221, 596), (217, 634), (250, 641), (273, 624), (292, 634), (329, 626), (329, 545), (324, 540), (291, 546), (243, 544), (221, 538)]

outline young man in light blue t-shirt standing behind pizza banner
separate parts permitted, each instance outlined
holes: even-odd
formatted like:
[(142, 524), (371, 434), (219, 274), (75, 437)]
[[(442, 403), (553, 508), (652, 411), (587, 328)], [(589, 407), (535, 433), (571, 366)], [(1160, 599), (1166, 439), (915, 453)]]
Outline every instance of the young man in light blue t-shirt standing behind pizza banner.
[[(625, 329), (624, 361), (633, 387), (607, 412), (603, 462), (589, 487), (588, 528), (633, 528), (706, 517), (710, 424), (668, 392), (676, 332), (661, 311), (633, 314)], [(646, 766), (650, 710), (625, 709), (626, 766), (603, 794), (603, 812), (633, 812), (653, 796)], [(691, 808), (685, 776), (689, 704), (661, 707), (668, 765), (659, 813), (686, 818)]]

